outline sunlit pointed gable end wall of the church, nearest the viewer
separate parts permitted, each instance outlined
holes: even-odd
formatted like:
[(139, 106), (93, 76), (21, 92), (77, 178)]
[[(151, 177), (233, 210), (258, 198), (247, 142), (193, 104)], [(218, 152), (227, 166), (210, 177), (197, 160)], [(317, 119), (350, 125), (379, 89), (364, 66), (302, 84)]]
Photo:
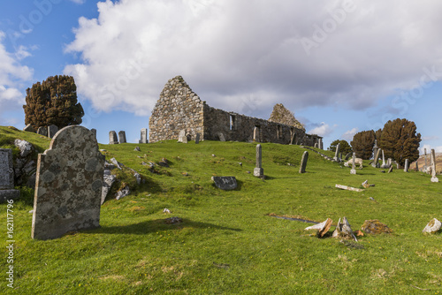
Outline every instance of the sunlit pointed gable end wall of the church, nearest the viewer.
[(149, 118), (149, 141), (178, 140), (183, 129), (194, 139), (203, 133), (202, 109), (203, 102), (181, 76), (170, 79)]

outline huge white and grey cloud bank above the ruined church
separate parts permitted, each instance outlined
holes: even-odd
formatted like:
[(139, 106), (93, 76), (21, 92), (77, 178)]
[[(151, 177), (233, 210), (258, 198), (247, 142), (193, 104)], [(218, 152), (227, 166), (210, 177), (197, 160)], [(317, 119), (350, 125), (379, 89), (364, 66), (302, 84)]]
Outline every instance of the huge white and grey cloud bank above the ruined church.
[[(262, 94), (259, 114), (277, 102), (363, 110), (415, 87), (423, 67), (441, 72), (442, 2), (355, 0), (339, 19), (342, 3), (108, 0), (97, 19), (79, 20), (66, 52), (81, 60), (65, 74), (100, 110), (148, 115), (176, 75), (225, 110)], [(329, 33), (308, 55), (301, 41), (317, 27)]]

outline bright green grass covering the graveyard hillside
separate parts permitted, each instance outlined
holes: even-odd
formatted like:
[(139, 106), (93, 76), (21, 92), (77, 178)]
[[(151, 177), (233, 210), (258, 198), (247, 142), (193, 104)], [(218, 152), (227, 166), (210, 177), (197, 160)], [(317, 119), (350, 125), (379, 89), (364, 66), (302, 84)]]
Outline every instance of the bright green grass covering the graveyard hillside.
[[(38, 135), (0, 127), (0, 146), (12, 138), (49, 146)], [(264, 143), (262, 180), (253, 177), (255, 144), (170, 140), (138, 145), (141, 152), (135, 146), (100, 145), (107, 159), (116, 157), (147, 182), (122, 200), (107, 200), (99, 229), (33, 240), (32, 192), (14, 203), (15, 293), (442, 293), (442, 235), (421, 233), (431, 218), (442, 219), (442, 184), (429, 175), (380, 173), (368, 162), (350, 175), (350, 168), (313, 152), (307, 173), (299, 174), (305, 149)], [(163, 157), (170, 168), (151, 173), (141, 165)], [(211, 176), (235, 176), (239, 188), (221, 191)], [(366, 179), (376, 186), (362, 193), (334, 187), (361, 187)], [(164, 208), (172, 214), (164, 215)], [(333, 223), (347, 216), (354, 231), (378, 219), (393, 233), (364, 236), (360, 249), (330, 235), (309, 236), (303, 229), (310, 224), (271, 213), (318, 222), (331, 217)], [(5, 224), (5, 204), (0, 216)], [(183, 223), (165, 224), (171, 216)], [(4, 274), (6, 259), (0, 265)]]

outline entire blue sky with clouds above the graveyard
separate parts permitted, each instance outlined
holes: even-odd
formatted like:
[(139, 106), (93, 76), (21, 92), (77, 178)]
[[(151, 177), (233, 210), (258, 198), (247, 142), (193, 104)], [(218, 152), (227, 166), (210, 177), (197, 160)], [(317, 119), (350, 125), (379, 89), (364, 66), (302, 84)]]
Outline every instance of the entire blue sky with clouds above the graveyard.
[(168, 79), (210, 106), (350, 141), (406, 117), (442, 152), (442, 4), (424, 0), (36, 0), (0, 4), (0, 125), (24, 127), (25, 90), (75, 78), (86, 116), (137, 142)]

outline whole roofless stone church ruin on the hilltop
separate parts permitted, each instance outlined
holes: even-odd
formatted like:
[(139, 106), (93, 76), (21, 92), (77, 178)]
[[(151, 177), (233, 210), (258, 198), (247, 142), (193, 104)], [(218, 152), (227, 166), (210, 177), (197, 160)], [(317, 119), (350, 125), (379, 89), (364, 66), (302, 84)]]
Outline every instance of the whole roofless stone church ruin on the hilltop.
[(200, 140), (255, 140), (322, 146), (322, 138), (306, 134), (304, 127), (282, 104), (277, 104), (275, 108), (281, 115), (275, 113), (271, 120), (218, 110), (202, 102), (186, 81), (177, 76), (165, 84), (152, 110), (149, 117), (149, 141), (179, 140), (179, 132), (185, 130), (189, 140), (195, 140), (196, 133), (200, 133)]

